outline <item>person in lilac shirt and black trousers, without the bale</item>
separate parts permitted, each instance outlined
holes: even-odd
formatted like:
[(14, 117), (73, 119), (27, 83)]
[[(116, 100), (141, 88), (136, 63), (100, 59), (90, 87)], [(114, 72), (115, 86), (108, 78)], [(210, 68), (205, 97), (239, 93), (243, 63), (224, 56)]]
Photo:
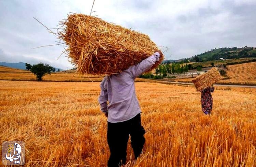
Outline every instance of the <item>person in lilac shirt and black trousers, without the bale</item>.
[(129, 135), (135, 159), (142, 152), (145, 130), (141, 125), (141, 109), (135, 93), (134, 79), (150, 70), (159, 61), (160, 56), (162, 52), (158, 50), (119, 74), (105, 76), (100, 83), (101, 93), (98, 100), (101, 111), (108, 117), (109, 167), (118, 167), (126, 163)]

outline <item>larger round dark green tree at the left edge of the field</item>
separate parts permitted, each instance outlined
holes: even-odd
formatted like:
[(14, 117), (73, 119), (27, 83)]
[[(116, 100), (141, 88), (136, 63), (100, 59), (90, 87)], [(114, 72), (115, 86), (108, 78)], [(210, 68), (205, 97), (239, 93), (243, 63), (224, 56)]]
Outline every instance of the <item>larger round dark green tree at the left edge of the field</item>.
[(37, 76), (37, 80), (38, 81), (42, 81), (42, 77), (45, 74), (51, 74), (51, 72), (53, 71), (53, 67), (50, 66), (49, 64), (43, 64), (43, 63), (38, 63), (38, 64), (34, 64), (31, 67), (30, 70), (34, 75)]

